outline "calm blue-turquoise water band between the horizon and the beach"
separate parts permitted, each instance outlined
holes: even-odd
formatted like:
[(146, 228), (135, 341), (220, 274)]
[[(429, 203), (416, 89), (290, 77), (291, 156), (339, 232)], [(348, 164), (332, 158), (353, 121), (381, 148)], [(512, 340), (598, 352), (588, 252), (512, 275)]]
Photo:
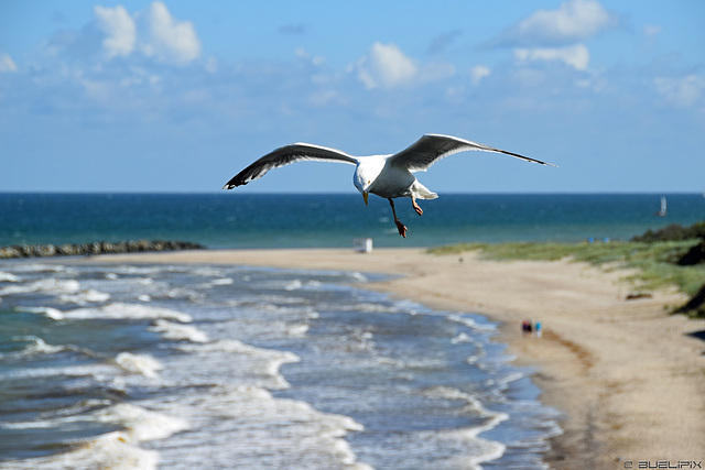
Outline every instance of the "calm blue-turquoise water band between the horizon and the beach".
[(430, 247), (469, 241), (629, 239), (669, 223), (705, 219), (699, 194), (666, 195), (442, 195), (421, 201), (419, 217), (397, 203), (409, 228), (397, 233), (387, 200), (349, 195), (4, 194), (0, 245), (178, 239), (208, 248)]

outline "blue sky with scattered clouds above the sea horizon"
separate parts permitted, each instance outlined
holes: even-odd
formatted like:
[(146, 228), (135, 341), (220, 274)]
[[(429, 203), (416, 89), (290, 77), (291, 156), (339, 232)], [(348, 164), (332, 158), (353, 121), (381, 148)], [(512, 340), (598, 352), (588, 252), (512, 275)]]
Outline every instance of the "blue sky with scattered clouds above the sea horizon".
[[(705, 2), (0, 3), (0, 190), (216, 192), (274, 147), (479, 152), (453, 193), (705, 192)], [(355, 193), (300, 163), (237, 192)]]

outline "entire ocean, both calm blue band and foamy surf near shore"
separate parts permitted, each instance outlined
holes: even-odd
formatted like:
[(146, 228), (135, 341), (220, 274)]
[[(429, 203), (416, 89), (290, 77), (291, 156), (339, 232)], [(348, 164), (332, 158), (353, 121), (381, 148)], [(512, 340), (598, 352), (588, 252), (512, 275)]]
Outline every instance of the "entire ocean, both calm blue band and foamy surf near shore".
[[(442, 195), (401, 239), (356, 195), (0, 195), (0, 245), (628, 239), (702, 195)], [(560, 413), (475, 311), (364, 272), (0, 261), (1, 469), (544, 468)], [(540, 318), (540, 311), (536, 313)]]

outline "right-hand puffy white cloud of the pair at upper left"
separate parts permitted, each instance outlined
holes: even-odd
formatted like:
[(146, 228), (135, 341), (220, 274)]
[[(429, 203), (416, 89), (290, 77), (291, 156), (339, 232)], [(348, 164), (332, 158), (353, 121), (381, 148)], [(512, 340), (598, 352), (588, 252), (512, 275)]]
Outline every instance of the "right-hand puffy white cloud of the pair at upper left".
[(140, 48), (148, 57), (177, 65), (187, 64), (200, 55), (200, 41), (193, 23), (175, 21), (166, 6), (153, 2), (142, 23), (144, 31)]

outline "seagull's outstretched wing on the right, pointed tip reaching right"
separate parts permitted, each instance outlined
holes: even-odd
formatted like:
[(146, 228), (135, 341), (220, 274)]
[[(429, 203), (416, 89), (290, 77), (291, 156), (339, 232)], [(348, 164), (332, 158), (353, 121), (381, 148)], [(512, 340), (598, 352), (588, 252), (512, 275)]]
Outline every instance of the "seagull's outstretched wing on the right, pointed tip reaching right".
[(506, 150), (495, 149), (481, 143), (466, 141), (465, 139), (440, 134), (425, 134), (408, 149), (404, 149), (390, 157), (389, 163), (405, 167), (410, 172), (425, 172), (438, 160), (445, 159), (454, 153), (465, 152), (466, 150), (482, 150), (485, 152), (503, 153), (506, 155), (525, 160), (527, 162), (555, 166), (551, 163), (519, 155), (518, 153), (507, 152)]

